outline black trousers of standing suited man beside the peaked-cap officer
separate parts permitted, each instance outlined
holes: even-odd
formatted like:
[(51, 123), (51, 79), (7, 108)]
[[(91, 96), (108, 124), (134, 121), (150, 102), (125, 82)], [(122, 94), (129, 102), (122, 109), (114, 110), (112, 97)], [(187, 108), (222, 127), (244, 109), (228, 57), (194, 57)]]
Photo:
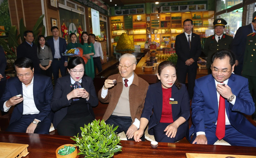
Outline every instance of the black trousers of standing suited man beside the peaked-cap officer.
[(185, 63), (177, 63), (177, 79), (180, 83), (186, 84), (187, 77), (187, 91), (189, 92), (189, 99), (194, 95), (195, 78), (197, 77), (197, 62), (187, 66)]

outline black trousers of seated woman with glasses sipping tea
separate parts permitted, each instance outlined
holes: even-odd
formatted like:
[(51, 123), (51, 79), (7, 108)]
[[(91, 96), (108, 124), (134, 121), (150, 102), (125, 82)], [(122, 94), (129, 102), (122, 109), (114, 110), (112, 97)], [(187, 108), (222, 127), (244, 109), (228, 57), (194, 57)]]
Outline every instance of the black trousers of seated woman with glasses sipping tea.
[(84, 128), (84, 124), (88, 125), (94, 120), (91, 115), (84, 116), (82, 118), (63, 118), (57, 125), (57, 131), (60, 136), (78, 136), (81, 137), (81, 129)]

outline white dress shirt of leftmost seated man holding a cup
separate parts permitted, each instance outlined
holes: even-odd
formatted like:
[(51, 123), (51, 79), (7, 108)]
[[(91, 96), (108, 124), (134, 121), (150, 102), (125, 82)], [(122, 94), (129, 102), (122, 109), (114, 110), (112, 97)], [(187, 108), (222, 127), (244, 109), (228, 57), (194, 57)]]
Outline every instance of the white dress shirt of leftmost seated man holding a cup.
[[(32, 78), (30, 85), (26, 86), (24, 83), (22, 83), (22, 92), (23, 92), (23, 114), (22, 115), (28, 115), (28, 114), (33, 115), (33, 114), (38, 114), (40, 112), (35, 106), (33, 86), (34, 86), (34, 77)], [(4, 112), (7, 112), (10, 109), (10, 107), (6, 107), (6, 101), (5, 101), (5, 103), (3, 104)]]

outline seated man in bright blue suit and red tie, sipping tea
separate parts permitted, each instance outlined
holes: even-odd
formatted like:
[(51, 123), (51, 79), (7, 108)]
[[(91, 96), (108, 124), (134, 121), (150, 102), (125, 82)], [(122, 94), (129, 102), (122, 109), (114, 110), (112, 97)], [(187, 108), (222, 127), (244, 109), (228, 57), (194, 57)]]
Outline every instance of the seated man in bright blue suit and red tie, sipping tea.
[(211, 58), (212, 74), (195, 81), (192, 100), (192, 143), (214, 144), (218, 139), (230, 145), (256, 147), (256, 127), (243, 114), (255, 107), (248, 79), (232, 74), (235, 54), (218, 50)]

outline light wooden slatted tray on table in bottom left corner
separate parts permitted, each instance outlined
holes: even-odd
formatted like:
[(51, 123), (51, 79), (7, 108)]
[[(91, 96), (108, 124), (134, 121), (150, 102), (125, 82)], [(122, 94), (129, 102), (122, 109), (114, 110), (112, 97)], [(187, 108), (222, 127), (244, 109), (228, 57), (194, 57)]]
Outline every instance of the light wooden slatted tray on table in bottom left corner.
[(21, 158), (25, 157), (27, 152), (27, 144), (0, 143), (0, 158)]

